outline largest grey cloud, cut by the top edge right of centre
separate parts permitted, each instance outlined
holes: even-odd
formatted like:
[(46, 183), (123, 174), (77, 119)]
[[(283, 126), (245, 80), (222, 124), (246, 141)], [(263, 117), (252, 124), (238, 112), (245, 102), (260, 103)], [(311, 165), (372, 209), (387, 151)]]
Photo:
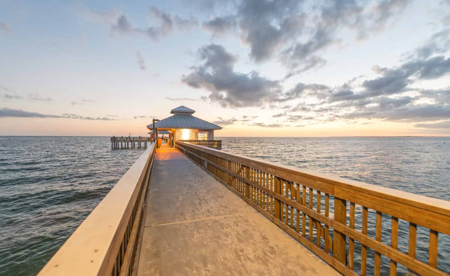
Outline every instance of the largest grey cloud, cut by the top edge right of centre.
[(220, 10), (222, 16), (203, 22), (202, 27), (213, 36), (237, 28), (252, 61), (275, 57), (287, 67), (289, 78), (323, 67), (326, 60), (320, 52), (340, 43), (342, 30), (354, 31), (358, 39), (367, 38), (394, 22), (410, 2), (332, 0), (314, 3), (311, 9), (309, 2), (298, 0), (213, 1), (208, 6)]

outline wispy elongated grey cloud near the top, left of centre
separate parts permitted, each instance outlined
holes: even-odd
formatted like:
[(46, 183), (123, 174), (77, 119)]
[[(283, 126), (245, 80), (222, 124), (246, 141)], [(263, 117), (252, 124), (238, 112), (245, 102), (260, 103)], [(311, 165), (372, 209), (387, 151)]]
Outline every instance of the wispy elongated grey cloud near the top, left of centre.
[(158, 41), (161, 37), (172, 33), (174, 26), (180, 30), (190, 30), (198, 26), (195, 18), (184, 19), (179, 16), (172, 16), (158, 7), (152, 6), (149, 9), (150, 18), (155, 20), (159, 26), (139, 28), (134, 27), (125, 14), (121, 14), (116, 22), (111, 25), (112, 34), (115, 35), (144, 35), (150, 40)]

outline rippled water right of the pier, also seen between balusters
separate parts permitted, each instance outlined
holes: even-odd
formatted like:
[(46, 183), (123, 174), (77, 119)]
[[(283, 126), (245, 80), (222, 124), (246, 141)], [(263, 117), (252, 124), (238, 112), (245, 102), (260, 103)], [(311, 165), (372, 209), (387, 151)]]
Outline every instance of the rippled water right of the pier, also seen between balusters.
[[(220, 138), (218, 138), (220, 139)], [(450, 200), (450, 138), (221, 138), (223, 151), (338, 175), (423, 196)], [(308, 196), (306, 197), (308, 198)], [(324, 199), (322, 199), (322, 205)], [(314, 200), (314, 205), (316, 205)], [(330, 209), (333, 200), (330, 197)], [(322, 210), (324, 207), (322, 208)], [(349, 203), (347, 202), (347, 210)], [(323, 211), (322, 211), (323, 212)], [(361, 231), (361, 206), (355, 225)], [(347, 211), (347, 216), (348, 216)], [(348, 225), (348, 218), (347, 218)], [(391, 217), (383, 214), (382, 242), (391, 245)], [(399, 250), (408, 253), (409, 223), (399, 219)], [(375, 212), (369, 210), (368, 235), (375, 238)], [(417, 227), (416, 258), (428, 263), (429, 230)], [(348, 241), (347, 241), (348, 244)], [(355, 268), (360, 269), (360, 244), (355, 242)], [(368, 250), (373, 274), (374, 251)], [(398, 275), (406, 275), (398, 265)], [(450, 273), (450, 236), (439, 234), (438, 268)], [(382, 275), (389, 259), (382, 256)]]

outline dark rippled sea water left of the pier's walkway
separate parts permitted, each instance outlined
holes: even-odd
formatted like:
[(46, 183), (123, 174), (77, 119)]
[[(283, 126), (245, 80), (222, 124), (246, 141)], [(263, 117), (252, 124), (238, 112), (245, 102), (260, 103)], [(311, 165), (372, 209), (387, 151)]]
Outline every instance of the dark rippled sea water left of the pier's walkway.
[(33, 276), (142, 149), (108, 137), (0, 136), (0, 275)]

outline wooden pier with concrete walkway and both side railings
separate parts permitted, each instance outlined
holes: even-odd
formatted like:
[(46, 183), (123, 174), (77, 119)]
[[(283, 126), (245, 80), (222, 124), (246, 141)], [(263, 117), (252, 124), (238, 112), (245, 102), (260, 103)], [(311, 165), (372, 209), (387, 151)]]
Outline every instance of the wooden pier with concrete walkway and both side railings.
[[(409, 230), (399, 231), (400, 221)], [(416, 257), (419, 227), (427, 260)], [(400, 265), (410, 275), (449, 276), (438, 266), (448, 258), (441, 235), (450, 235), (448, 201), (181, 141), (175, 149), (152, 143), (38, 276), (395, 276)], [(399, 240), (408, 240), (407, 252)]]

